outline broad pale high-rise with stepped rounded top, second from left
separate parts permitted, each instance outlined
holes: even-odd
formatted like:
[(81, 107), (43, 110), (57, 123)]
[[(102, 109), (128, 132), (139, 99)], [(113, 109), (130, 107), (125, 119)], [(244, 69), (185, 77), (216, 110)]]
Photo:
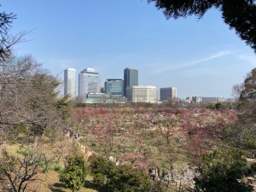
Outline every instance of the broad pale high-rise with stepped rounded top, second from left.
[(79, 96), (88, 93), (100, 93), (101, 76), (93, 68), (85, 68), (79, 73)]

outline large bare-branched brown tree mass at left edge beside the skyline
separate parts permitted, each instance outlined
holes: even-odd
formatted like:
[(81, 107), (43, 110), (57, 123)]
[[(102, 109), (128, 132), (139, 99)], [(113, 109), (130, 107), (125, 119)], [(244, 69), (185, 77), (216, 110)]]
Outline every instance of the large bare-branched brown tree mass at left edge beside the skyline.
[[(61, 130), (67, 118), (67, 98), (58, 98), (60, 84), (32, 56), (9, 58), (0, 69), (0, 141), (41, 136), (47, 127)], [(65, 111), (65, 115), (63, 115)], [(14, 134), (17, 132), (17, 134)], [(29, 137), (27, 137), (29, 138)]]

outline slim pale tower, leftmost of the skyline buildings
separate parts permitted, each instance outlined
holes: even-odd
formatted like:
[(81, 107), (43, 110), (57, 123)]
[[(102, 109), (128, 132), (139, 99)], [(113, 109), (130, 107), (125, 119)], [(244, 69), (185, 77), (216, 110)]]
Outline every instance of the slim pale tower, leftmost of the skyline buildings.
[(76, 73), (74, 68), (64, 70), (64, 96), (76, 96)]

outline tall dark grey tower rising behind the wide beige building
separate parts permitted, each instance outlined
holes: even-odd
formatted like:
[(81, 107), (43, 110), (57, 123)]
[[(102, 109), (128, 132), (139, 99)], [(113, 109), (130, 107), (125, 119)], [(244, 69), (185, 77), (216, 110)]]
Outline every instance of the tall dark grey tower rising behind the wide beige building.
[(137, 69), (125, 68), (124, 70), (124, 96), (126, 96), (126, 87), (138, 85)]

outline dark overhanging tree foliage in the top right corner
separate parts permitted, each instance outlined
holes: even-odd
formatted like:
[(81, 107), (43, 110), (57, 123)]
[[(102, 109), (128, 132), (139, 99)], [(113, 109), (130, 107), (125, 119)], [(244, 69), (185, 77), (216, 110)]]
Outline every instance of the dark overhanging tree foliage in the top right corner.
[(256, 4), (255, 0), (148, 0), (163, 9), (166, 18), (178, 19), (195, 15), (201, 18), (209, 9), (219, 9), (224, 22), (234, 28), (256, 52)]

